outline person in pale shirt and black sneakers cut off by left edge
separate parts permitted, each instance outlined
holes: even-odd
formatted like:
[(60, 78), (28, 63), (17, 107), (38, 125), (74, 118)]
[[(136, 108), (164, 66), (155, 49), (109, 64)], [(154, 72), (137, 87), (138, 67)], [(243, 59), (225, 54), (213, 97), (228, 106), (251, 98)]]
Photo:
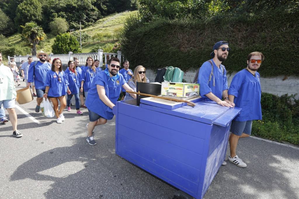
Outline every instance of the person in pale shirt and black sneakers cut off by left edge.
[(6, 108), (11, 125), (13, 126), (13, 136), (22, 137), (17, 129), (17, 114), (15, 111), (16, 88), (13, 74), (10, 68), (2, 64), (2, 53), (0, 53), (0, 108), (3, 104)]

